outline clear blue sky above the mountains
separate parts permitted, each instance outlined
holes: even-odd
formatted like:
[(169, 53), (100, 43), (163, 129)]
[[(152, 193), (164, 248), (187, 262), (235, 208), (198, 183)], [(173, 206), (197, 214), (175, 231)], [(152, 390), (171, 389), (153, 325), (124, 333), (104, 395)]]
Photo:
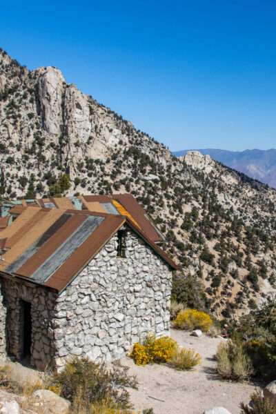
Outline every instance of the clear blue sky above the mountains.
[(171, 150), (276, 147), (276, 2), (2, 2), (0, 46)]

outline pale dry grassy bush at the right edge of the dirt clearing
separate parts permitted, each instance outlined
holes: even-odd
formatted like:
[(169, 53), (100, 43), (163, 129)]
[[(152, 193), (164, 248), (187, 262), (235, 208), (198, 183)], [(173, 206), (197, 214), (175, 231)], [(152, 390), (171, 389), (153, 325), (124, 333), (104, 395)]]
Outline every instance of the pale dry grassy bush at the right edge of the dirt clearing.
[(242, 381), (253, 374), (253, 366), (242, 344), (221, 342), (217, 348), (217, 373), (226, 380)]

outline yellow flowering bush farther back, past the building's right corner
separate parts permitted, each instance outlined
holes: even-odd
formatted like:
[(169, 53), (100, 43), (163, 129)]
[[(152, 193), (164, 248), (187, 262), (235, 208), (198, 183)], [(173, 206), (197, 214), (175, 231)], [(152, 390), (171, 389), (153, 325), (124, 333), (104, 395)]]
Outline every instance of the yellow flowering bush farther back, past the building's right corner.
[(208, 332), (212, 325), (213, 321), (208, 313), (196, 309), (180, 311), (174, 321), (175, 328), (187, 331), (198, 328), (201, 331)]

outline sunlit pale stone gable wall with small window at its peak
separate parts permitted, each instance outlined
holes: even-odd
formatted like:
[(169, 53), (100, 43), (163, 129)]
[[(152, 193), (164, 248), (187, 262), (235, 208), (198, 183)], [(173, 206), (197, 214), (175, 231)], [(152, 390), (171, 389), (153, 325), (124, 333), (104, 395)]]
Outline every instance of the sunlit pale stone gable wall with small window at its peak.
[(129, 231), (123, 259), (112, 237), (57, 299), (57, 367), (72, 355), (110, 361), (148, 332), (168, 335), (170, 290), (171, 270), (151, 248)]

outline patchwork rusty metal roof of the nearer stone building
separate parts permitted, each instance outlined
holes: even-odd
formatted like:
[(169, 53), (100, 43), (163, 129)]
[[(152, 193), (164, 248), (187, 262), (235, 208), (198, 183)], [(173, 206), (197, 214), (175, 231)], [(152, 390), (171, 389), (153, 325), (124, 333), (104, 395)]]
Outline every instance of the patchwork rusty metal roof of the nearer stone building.
[(128, 217), (89, 210), (25, 207), (1, 231), (0, 246), (5, 246), (6, 251), (0, 271), (61, 291), (124, 223), (170, 267), (177, 268)]

